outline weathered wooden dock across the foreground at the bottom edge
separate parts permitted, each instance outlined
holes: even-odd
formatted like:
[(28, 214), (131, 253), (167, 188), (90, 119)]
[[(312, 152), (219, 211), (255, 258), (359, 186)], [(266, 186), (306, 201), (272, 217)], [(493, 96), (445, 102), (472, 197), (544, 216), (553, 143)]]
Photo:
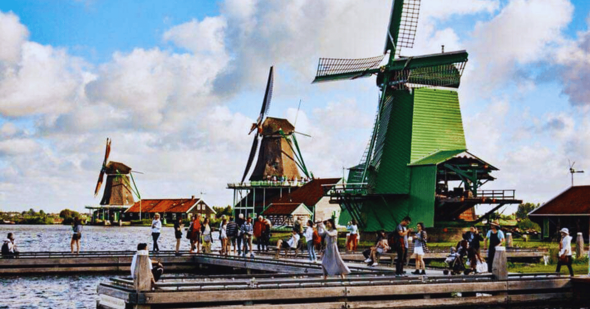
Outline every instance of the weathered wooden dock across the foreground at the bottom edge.
[[(574, 283), (556, 274), (406, 277), (388, 273), (324, 280), (315, 275), (164, 278), (155, 290), (136, 291), (131, 278), (97, 287), (97, 308), (342, 309), (441, 308), (474, 305), (575, 304)], [(586, 293), (587, 294), (587, 293)], [(587, 296), (585, 296), (587, 297)]]

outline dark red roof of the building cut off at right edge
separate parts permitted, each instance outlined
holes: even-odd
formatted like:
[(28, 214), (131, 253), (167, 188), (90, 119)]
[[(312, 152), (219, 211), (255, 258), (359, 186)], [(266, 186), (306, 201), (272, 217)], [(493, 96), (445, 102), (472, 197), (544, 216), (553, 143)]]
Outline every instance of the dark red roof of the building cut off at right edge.
[(570, 187), (529, 215), (590, 215), (590, 185)]

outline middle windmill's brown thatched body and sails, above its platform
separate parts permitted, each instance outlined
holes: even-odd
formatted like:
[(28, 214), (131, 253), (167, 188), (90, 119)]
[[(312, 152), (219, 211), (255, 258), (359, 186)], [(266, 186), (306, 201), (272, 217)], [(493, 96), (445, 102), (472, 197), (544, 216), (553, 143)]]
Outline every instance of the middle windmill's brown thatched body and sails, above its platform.
[(260, 139), (258, 161), (250, 176), (251, 181), (266, 180), (273, 176), (283, 176), (288, 179), (294, 177), (300, 178), (297, 167), (309, 177), (307, 168), (305, 167), (299, 152), (297, 140), (293, 137), (295, 127), (293, 127), (287, 119), (273, 117), (267, 117), (264, 119), (264, 116), (268, 112), (268, 107), (270, 107), (272, 95), (273, 67), (270, 67), (260, 114), (258, 115), (256, 122), (252, 124), (250, 133), (248, 133), (251, 134), (254, 130), (256, 131), (254, 133), (250, 155), (246, 162), (244, 175), (242, 175), (242, 183), (250, 171), (250, 167), (252, 166), (252, 162), (254, 161), (254, 157), (258, 150), (258, 142)]

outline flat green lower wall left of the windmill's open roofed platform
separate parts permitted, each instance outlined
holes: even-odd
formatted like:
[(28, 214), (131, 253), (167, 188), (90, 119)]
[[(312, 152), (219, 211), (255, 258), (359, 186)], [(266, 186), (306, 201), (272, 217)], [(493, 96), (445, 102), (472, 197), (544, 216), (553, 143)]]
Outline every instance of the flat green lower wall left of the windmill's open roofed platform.
[(434, 197), (437, 182), (437, 166), (421, 165), (411, 168), (408, 214), (412, 222), (424, 222), (424, 227), (434, 227)]

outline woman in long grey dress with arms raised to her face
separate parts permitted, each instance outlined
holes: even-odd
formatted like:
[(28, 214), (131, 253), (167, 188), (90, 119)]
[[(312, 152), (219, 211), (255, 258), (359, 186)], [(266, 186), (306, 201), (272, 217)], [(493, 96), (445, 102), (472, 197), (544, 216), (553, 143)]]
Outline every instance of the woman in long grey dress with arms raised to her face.
[(350, 269), (340, 257), (338, 251), (338, 230), (336, 230), (336, 224), (333, 219), (328, 219), (320, 224), (318, 233), (325, 235), (326, 237), (326, 250), (322, 257), (322, 270), (324, 273), (324, 279), (327, 279), (328, 275), (340, 275), (343, 279), (346, 274), (350, 273)]

